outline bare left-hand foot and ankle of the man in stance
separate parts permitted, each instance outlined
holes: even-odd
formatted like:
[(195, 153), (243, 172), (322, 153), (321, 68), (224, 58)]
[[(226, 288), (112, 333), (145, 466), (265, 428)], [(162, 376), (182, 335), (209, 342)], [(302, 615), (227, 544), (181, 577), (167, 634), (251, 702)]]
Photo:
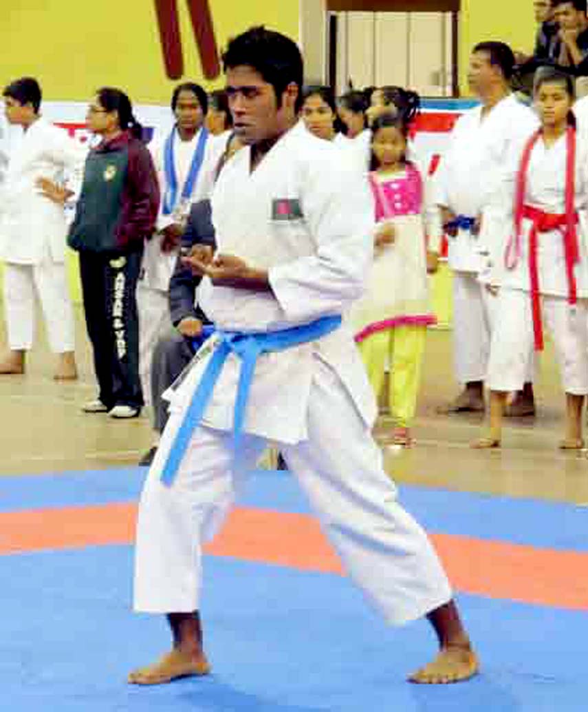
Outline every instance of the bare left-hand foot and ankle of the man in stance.
[(180, 677), (207, 675), (210, 665), (203, 650), (200, 614), (170, 613), (169, 627), (173, 648), (154, 664), (129, 674), (129, 682), (137, 685), (160, 685)]

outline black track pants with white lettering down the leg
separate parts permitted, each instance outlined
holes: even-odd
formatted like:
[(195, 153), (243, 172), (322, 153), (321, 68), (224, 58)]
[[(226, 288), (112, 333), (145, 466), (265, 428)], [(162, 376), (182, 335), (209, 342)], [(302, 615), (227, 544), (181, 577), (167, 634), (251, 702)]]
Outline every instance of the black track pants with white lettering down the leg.
[(86, 328), (94, 355), (98, 397), (108, 409), (143, 405), (139, 379), (137, 279), (141, 252), (80, 252)]

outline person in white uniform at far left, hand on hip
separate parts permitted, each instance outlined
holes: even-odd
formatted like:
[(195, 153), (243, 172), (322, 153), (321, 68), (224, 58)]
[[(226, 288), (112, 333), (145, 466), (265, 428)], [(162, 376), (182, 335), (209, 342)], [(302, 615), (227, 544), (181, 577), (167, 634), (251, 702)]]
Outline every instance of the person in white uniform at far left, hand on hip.
[[(1, 374), (21, 374), (33, 346), (35, 295), (41, 302), (55, 379), (75, 379), (74, 318), (65, 267), (65, 201), (79, 188), (82, 145), (40, 113), (41, 88), (25, 77), (4, 89), (6, 118), (23, 129), (11, 143), (0, 188), (0, 258), (9, 353)], [(66, 187), (66, 184), (69, 187)]]

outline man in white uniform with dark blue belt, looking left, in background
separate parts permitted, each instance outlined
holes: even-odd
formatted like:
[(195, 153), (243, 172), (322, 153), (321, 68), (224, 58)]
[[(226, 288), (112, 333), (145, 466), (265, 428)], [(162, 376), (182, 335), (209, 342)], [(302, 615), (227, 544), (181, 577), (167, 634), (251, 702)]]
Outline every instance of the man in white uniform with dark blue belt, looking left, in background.
[[(533, 110), (511, 93), (513, 65), (511, 48), (502, 42), (474, 47), (468, 79), (481, 105), (457, 120), (434, 177), (453, 271), (454, 369), (464, 387), (453, 402), (439, 407), (442, 413), (484, 409), (483, 382), (499, 286), (496, 265), (506, 240), (506, 156), (538, 125)], [(525, 387), (515, 394), (512, 414), (535, 413), (532, 381), (530, 354)]]

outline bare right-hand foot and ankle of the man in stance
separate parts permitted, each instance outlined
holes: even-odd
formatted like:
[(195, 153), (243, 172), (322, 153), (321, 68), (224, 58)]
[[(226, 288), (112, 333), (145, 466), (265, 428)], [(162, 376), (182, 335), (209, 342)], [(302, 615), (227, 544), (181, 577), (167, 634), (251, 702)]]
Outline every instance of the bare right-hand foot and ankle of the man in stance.
[(454, 601), (427, 616), (439, 639), (439, 654), (424, 668), (409, 677), (411, 682), (440, 685), (460, 682), (474, 676), (479, 662), (464, 630)]

